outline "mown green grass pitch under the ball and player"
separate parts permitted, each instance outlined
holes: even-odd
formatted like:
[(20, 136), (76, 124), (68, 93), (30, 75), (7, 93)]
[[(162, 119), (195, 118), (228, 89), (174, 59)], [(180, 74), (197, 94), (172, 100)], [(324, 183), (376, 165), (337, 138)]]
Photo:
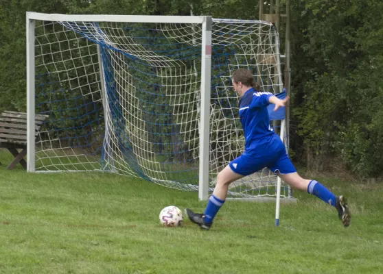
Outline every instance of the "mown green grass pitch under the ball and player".
[[(165, 206), (202, 211), (194, 192), (102, 173), (5, 171), (0, 273), (383, 273), (383, 186), (321, 182), (349, 197), (351, 226), (295, 192), (296, 204), (228, 201), (209, 232), (159, 225)], [(10, 154), (9, 154), (10, 155)], [(319, 178), (318, 178), (319, 179)]]

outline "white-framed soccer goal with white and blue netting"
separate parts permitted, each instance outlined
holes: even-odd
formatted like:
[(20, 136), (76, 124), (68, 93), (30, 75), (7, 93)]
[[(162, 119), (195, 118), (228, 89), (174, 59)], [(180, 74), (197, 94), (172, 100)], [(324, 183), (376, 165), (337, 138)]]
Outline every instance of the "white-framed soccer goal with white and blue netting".
[[(244, 149), (235, 69), (283, 91), (265, 21), (27, 13), (27, 170), (104, 171), (198, 191)], [(49, 118), (35, 133), (36, 114)], [(284, 118), (270, 123), (281, 138)], [(233, 199), (292, 199), (268, 170)], [(279, 201), (279, 199), (277, 199)]]

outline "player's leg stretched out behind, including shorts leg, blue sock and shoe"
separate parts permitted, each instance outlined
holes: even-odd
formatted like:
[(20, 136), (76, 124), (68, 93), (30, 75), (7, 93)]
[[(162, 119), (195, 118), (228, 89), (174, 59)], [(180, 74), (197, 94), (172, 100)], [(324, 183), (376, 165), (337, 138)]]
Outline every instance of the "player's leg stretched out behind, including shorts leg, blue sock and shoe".
[(281, 153), (281, 157), (269, 168), (277, 173), (279, 177), (292, 188), (307, 191), (325, 203), (328, 203), (330, 206), (334, 206), (334, 208), (338, 210), (338, 216), (339, 219), (342, 220), (343, 225), (345, 227), (349, 226), (351, 214), (345, 197), (336, 197), (325, 186), (314, 179), (303, 179), (295, 170), (286, 152)]

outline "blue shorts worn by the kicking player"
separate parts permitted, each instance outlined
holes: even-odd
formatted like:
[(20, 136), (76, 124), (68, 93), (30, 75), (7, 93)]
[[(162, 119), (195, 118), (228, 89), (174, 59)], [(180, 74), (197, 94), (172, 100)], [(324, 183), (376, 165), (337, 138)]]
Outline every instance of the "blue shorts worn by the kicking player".
[(244, 176), (251, 175), (265, 167), (282, 175), (297, 172), (284, 149), (270, 151), (263, 155), (244, 152), (240, 157), (231, 161), (229, 166), (232, 171)]

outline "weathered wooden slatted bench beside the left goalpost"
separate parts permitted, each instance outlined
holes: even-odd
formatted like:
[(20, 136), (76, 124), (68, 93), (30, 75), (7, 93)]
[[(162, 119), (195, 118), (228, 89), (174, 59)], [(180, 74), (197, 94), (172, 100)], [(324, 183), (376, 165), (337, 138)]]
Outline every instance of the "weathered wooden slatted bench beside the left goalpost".
[[(35, 115), (35, 136), (47, 117), (47, 115)], [(14, 169), (17, 163), (27, 169), (27, 162), (24, 160), (25, 155), (27, 155), (27, 114), (25, 112), (5, 111), (1, 114), (1, 147), (8, 149), (14, 156), (14, 160), (7, 166), (7, 169)], [(19, 152), (18, 149), (21, 149), (21, 151)]]

